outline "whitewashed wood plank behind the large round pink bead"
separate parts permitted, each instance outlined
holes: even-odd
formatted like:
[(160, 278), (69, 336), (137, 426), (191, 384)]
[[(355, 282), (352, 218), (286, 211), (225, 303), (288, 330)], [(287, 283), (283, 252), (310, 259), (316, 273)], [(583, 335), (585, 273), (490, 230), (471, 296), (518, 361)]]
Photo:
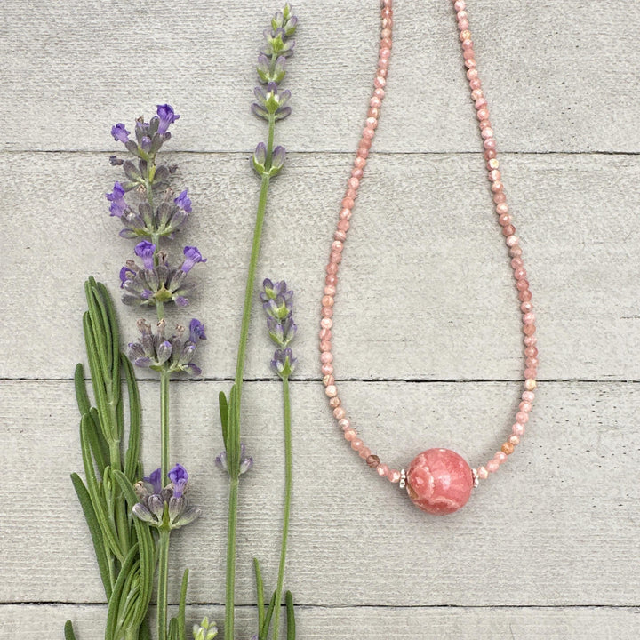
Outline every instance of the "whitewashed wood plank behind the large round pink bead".
[[(222, 385), (224, 387), (224, 385)], [(191, 602), (222, 602), (226, 486), (214, 411), (220, 383), (172, 390), (172, 460), (188, 464), (201, 521), (174, 538)], [(158, 386), (141, 385), (148, 468), (158, 457)], [(0, 503), (0, 601), (103, 599), (68, 473), (80, 469), (70, 382), (4, 383), (0, 467), (18, 496)], [(508, 433), (516, 383), (352, 382), (342, 389), (366, 442), (396, 465), (447, 445), (472, 464)], [(519, 450), (457, 515), (428, 517), (373, 474), (341, 439), (319, 383), (293, 385), (294, 498), (287, 585), (321, 606), (634, 606), (640, 559), (636, 385), (547, 383)], [(179, 419), (178, 416), (181, 416)], [(276, 573), (283, 452), (276, 383), (249, 383), (244, 436), (256, 460), (243, 479), (238, 603), (254, 602), (252, 555)], [(25, 544), (28, 540), (28, 544)], [(69, 549), (73, 548), (73, 553)], [(28, 579), (25, 577), (28, 576)], [(53, 579), (55, 576), (55, 579)], [(60, 587), (60, 583), (62, 587)]]

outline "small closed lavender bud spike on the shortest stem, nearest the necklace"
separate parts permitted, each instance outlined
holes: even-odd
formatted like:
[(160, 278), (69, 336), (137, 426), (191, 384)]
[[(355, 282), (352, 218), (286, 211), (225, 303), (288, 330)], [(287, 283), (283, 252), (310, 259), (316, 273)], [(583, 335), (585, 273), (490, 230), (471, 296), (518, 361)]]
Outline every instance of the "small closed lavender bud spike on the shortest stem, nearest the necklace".
[(284, 280), (274, 284), (266, 279), (262, 283), (260, 300), (267, 314), (269, 338), (277, 347), (271, 360), (271, 368), (281, 378), (289, 378), (298, 363), (289, 347), (298, 331), (293, 322), (293, 292), (287, 289)]

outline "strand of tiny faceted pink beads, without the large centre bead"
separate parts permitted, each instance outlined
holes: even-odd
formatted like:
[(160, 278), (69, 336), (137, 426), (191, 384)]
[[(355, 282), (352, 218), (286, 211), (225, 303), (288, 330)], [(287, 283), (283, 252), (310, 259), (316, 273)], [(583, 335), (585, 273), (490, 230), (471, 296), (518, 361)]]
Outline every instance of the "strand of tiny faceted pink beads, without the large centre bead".
[[(347, 417), (347, 412), (345, 412), (342, 407), (336, 380), (333, 377), (332, 316), (333, 304), (338, 287), (338, 270), (342, 259), (342, 249), (347, 240), (349, 220), (351, 219), (352, 211), (356, 203), (360, 180), (362, 180), (369, 150), (371, 149), (375, 130), (378, 126), (380, 108), (385, 96), (388, 62), (391, 54), (393, 28), (392, 0), (382, 0), (382, 2), (380, 2), (380, 8), (380, 52), (378, 67), (376, 68), (375, 78), (373, 80), (374, 90), (372, 98), (369, 101), (369, 111), (367, 112), (366, 123), (358, 144), (356, 159), (354, 160), (351, 175), (347, 182), (347, 192), (342, 200), (342, 208), (340, 210), (337, 228), (333, 234), (329, 263), (325, 269), (326, 277), (324, 281), (324, 297), (322, 299), (322, 320), (320, 322), (321, 329), (319, 332), (320, 361), (322, 364), (321, 371), (324, 376), (324, 393), (329, 398), (329, 405), (332, 408), (333, 416), (344, 432), (345, 439), (351, 443), (351, 448), (358, 452), (359, 456), (366, 461), (369, 467), (374, 468), (379, 476), (386, 477), (392, 483), (398, 483), (402, 480), (401, 484), (404, 485), (404, 471), (390, 468), (387, 464), (380, 462), (380, 458), (372, 454), (371, 449), (364, 444), (356, 428), (352, 426), (351, 421)], [(458, 21), (462, 54), (465, 68), (467, 68), (467, 79), (471, 90), (471, 100), (473, 100), (476, 108), (480, 134), (483, 139), (484, 159), (486, 161), (488, 179), (491, 182), (495, 212), (498, 215), (502, 235), (505, 238), (509, 256), (511, 257), (511, 268), (513, 269), (516, 280), (524, 333), (524, 391), (521, 396), (518, 411), (516, 412), (516, 421), (511, 428), (511, 436), (502, 444), (500, 451), (496, 452), (492, 459), (487, 461), (484, 466), (472, 469), (475, 482), (477, 482), (478, 479), (485, 479), (490, 473), (494, 473), (500, 468), (500, 465), (514, 452), (516, 445), (520, 443), (520, 437), (524, 434), (524, 428), (529, 420), (529, 414), (532, 411), (532, 403), (535, 397), (534, 391), (538, 374), (538, 348), (536, 347), (538, 339), (535, 336), (536, 326), (532, 307), (532, 293), (529, 289), (529, 282), (526, 279), (527, 273), (524, 269), (523, 251), (509, 213), (507, 196), (505, 195), (504, 186), (501, 181), (500, 163), (496, 154), (495, 135), (489, 120), (487, 100), (484, 98), (482, 84), (480, 83), (476, 68), (476, 53), (471, 39), (471, 32), (469, 31), (468, 13), (466, 11), (467, 4), (464, 0), (453, 0), (453, 8)]]

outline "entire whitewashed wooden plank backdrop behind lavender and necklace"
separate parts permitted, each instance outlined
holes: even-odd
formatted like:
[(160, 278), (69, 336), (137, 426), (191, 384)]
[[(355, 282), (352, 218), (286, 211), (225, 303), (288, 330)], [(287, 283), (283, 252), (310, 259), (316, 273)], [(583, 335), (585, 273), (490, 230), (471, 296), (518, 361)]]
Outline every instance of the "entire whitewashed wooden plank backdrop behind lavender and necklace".
[[(524, 443), (456, 516), (429, 518), (380, 483), (332, 424), (318, 380), (324, 260), (371, 91), (375, 0), (299, 0), (278, 127), (289, 151), (268, 207), (260, 278), (296, 291), (294, 497), (287, 584), (300, 638), (636, 638), (640, 635), (640, 6), (469, 0), (471, 28), (540, 325), (540, 391)], [(401, 466), (445, 445), (472, 464), (508, 433), (519, 318), (491, 210), (451, 3), (397, 0), (388, 97), (345, 251), (336, 370), (368, 443)], [(260, 0), (5, 0), (0, 6), (5, 260), (0, 347), (0, 636), (101, 635), (106, 607), (68, 474), (81, 468), (71, 382), (84, 361), (82, 283), (114, 294), (131, 244), (104, 193), (111, 124), (169, 101), (165, 157), (209, 258), (189, 314), (203, 377), (172, 387), (172, 452), (204, 517), (175, 539), (188, 617), (222, 619), (226, 486), (215, 398), (233, 377), (257, 204), (249, 112)], [(8, 265), (6, 262), (8, 261)], [(120, 306), (124, 340), (137, 315)], [(172, 314), (178, 319), (180, 314)], [(255, 624), (252, 555), (276, 574), (279, 389), (258, 304), (247, 362), (238, 629)], [(158, 386), (140, 387), (144, 459), (158, 457)]]

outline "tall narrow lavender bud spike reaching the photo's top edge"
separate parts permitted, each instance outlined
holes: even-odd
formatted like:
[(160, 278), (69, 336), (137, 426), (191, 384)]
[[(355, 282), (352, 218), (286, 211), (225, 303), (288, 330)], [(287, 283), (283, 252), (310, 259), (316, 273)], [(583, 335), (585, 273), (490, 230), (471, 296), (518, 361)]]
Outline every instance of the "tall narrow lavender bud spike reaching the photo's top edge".
[[(286, 60), (295, 47), (292, 36), (297, 24), (298, 19), (292, 15), (291, 6), (285, 4), (284, 10), (276, 13), (271, 26), (264, 32), (265, 42), (260, 49), (256, 67), (261, 84), (253, 90), (256, 101), (252, 103), (252, 112), (267, 120), (270, 127), (278, 120), (284, 120), (292, 110), (288, 104), (291, 92), (282, 91), (280, 83), (286, 75)], [(270, 141), (269, 146), (260, 142), (252, 156), (253, 168), (261, 176), (277, 175), (286, 158), (284, 147), (272, 149), (270, 144)]]

